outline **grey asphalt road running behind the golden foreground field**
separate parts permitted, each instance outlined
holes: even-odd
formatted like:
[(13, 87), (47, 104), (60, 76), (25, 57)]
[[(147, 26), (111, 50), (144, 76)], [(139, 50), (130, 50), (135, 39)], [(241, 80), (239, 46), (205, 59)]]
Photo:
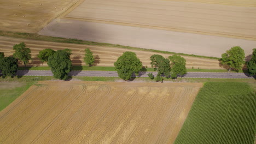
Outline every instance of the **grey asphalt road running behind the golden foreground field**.
[[(156, 72), (140, 72), (137, 77), (148, 77), (148, 73)], [(20, 76), (53, 76), (50, 70), (18, 70), (16, 75)], [(102, 76), (102, 77), (118, 77), (117, 71), (71, 71), (69, 76)], [(189, 72), (183, 77), (188, 78), (225, 78), (225, 79), (254, 79), (245, 73), (203, 73)]]

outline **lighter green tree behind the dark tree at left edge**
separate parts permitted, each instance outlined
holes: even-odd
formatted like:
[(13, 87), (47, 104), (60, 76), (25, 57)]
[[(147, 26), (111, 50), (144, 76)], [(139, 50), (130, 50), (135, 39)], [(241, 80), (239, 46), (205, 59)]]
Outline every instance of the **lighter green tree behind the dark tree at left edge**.
[(26, 47), (25, 43), (22, 42), (20, 44), (14, 45), (13, 49), (15, 50), (15, 52), (13, 53), (13, 57), (18, 58), (20, 61), (24, 62), (24, 65), (26, 67), (28, 61), (32, 59), (30, 54), (30, 48)]

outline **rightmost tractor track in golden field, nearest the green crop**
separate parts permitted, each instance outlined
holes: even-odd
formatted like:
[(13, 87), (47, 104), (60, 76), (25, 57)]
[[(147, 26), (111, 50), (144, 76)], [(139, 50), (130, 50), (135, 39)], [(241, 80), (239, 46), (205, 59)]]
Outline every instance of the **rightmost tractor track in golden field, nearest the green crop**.
[[(189, 88), (189, 89), (188, 89), (188, 88)], [(183, 99), (184, 95), (189, 94), (189, 92), (191, 91), (190, 89), (191, 89), (191, 87), (185, 87), (185, 91), (183, 91), (182, 97), (178, 100), (178, 102), (177, 102), (176, 105), (174, 106), (174, 108), (173, 108), (173, 110), (172, 110), (172, 112), (171, 112), (171, 115), (168, 117), (168, 119), (167, 119), (167, 121), (166, 121), (166, 123), (165, 123), (165, 126), (163, 127), (164, 129), (162, 129), (162, 131), (161, 131), (161, 133), (160, 133), (160, 135), (159, 135), (159, 137), (158, 137), (158, 140), (156, 140), (156, 142), (158, 142), (159, 140), (162, 140), (162, 138), (160, 138), (160, 137), (162, 137), (162, 134), (163, 134), (164, 131), (167, 129), (167, 128), (166, 128), (166, 125), (168, 124), (168, 122), (170, 122), (170, 119), (172, 118), (173, 113), (174, 113), (175, 110), (177, 109), (177, 106), (179, 105), (179, 103), (181, 103), (181, 100)]]

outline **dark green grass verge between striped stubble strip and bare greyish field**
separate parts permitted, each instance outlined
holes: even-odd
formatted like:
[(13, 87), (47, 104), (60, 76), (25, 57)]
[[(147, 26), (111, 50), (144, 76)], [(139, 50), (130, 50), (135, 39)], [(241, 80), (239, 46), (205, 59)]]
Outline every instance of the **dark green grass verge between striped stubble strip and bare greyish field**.
[(130, 49), (130, 50), (168, 53), (168, 54), (172, 54), (172, 55), (177, 54), (177, 55), (182, 55), (182, 56), (219, 59), (217, 57), (190, 55), (190, 54), (185, 54), (185, 53), (175, 53), (175, 52), (160, 51), (160, 50), (153, 50), (153, 49), (142, 49), (142, 48), (139, 48), (139, 47), (132, 47), (132, 46), (123, 46), (123, 45), (108, 44), (108, 43), (97, 43), (97, 42), (94, 42), (94, 41), (86, 41), (86, 40), (78, 40), (78, 39), (66, 39), (66, 38), (60, 38), (60, 37), (51, 37), (51, 36), (39, 35), (39, 34), (36, 34), (36, 33), (17, 33), (17, 32), (0, 31), (0, 35), (4, 36), (4, 37), (14, 37), (14, 38), (23, 38), (23, 39), (53, 41), (53, 42), (58, 42), (58, 43), (71, 43), (71, 44), (84, 44), (84, 45), (95, 45), (95, 46), (118, 47), (118, 48), (123, 48), (123, 49)]

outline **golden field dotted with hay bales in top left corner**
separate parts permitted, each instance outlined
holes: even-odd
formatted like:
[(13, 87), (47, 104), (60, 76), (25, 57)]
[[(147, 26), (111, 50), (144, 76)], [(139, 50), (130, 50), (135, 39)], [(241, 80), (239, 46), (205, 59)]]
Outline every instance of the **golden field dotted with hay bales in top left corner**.
[(77, 1), (79, 0), (2, 0), (0, 30), (36, 33)]

